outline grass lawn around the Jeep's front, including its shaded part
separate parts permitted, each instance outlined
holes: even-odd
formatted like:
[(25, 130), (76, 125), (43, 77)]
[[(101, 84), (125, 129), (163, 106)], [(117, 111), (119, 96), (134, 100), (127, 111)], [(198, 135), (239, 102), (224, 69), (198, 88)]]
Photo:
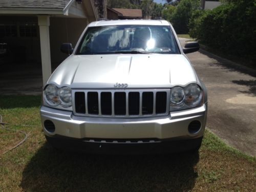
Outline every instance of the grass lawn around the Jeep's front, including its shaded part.
[[(254, 157), (206, 131), (199, 153), (87, 155), (54, 150), (40, 127), (40, 96), (0, 96), (0, 114), (28, 140), (0, 156), (0, 191), (255, 191)], [(25, 127), (17, 124), (33, 125)], [(0, 129), (0, 154), (23, 135)]]

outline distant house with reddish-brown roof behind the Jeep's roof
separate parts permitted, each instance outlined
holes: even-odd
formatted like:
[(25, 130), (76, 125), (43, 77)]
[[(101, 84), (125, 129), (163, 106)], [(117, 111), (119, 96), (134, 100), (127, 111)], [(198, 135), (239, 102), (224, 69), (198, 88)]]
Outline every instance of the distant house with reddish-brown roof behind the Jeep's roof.
[(110, 20), (115, 19), (141, 19), (141, 9), (119, 9), (107, 7), (107, 18)]

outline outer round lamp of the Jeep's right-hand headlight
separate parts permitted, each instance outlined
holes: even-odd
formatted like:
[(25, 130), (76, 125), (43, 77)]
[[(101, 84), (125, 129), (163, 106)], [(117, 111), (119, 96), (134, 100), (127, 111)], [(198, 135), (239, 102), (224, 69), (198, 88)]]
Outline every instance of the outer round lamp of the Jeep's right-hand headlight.
[(188, 106), (196, 106), (202, 98), (202, 91), (200, 87), (193, 83), (185, 87), (185, 99), (184, 102)]

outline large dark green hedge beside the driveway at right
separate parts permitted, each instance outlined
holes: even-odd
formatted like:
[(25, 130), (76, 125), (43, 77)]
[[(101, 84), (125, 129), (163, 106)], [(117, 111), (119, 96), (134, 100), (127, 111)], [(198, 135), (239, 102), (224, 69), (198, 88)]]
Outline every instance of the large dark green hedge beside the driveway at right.
[(214, 10), (196, 11), (189, 34), (230, 55), (255, 61), (256, 0), (229, 0)]

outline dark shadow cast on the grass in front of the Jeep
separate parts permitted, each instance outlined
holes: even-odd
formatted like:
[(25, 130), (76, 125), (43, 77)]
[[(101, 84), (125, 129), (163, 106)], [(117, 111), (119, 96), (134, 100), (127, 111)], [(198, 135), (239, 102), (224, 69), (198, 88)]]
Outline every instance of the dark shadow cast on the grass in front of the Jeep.
[(89, 155), (42, 146), (23, 172), (25, 191), (188, 191), (198, 153)]

